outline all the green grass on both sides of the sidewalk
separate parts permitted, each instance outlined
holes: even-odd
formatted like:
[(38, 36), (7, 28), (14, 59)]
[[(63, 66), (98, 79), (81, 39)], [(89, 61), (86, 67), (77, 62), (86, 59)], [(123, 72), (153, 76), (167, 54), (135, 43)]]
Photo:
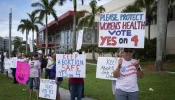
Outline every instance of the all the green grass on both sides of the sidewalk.
[[(166, 69), (166, 68), (164, 68)], [(175, 70), (175, 67), (168, 67)], [(154, 69), (144, 69), (144, 73)], [(87, 65), (85, 78), (85, 95), (97, 100), (114, 100), (111, 89), (111, 81), (97, 79), (96, 66)], [(145, 74), (143, 79), (138, 80), (140, 100), (174, 100), (175, 99), (175, 74)], [(12, 79), (6, 79), (5, 75), (0, 74), (0, 100), (36, 100), (36, 93), (29, 99), (29, 90), (24, 85), (12, 84)], [(64, 79), (61, 87), (68, 88), (68, 80)], [(152, 88), (154, 91), (149, 91)], [(39, 98), (39, 100), (46, 100)]]

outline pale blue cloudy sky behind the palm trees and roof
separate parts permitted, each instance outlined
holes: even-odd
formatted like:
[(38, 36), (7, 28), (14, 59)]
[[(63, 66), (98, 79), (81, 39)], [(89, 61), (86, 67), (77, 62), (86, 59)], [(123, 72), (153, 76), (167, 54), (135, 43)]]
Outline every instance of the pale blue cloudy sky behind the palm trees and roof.
[[(10, 8), (12, 8), (12, 36), (20, 36), (25, 40), (25, 33), (22, 34), (20, 31), (17, 31), (18, 25), (20, 24), (21, 19), (28, 19), (27, 13), (31, 13), (37, 7), (32, 7), (31, 4), (38, 2), (40, 0), (0, 0), (0, 36), (5, 37), (9, 36), (9, 13)], [(84, 4), (88, 5), (91, 0), (84, 0)], [(98, 1), (98, 0), (97, 0)], [(100, 0), (97, 2), (98, 5), (103, 5), (111, 0)], [(81, 0), (77, 0), (78, 4), (81, 4)], [(68, 10), (73, 9), (73, 3), (67, 0), (64, 6), (59, 6), (58, 4), (54, 7), (56, 10), (57, 16), (61, 16)], [(48, 22), (53, 21), (52, 16), (48, 17)], [(45, 23), (45, 22), (44, 22)], [(42, 26), (39, 26), (39, 29)], [(34, 36), (35, 38), (36, 36)], [(29, 33), (29, 38), (32, 38), (32, 32)]]

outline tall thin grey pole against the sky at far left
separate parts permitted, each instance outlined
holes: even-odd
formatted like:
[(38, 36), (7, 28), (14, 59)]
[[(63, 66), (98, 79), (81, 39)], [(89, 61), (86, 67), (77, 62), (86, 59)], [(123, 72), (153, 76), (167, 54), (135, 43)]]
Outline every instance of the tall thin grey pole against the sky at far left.
[(11, 57), (11, 29), (12, 29), (12, 8), (10, 8), (9, 13), (9, 58)]

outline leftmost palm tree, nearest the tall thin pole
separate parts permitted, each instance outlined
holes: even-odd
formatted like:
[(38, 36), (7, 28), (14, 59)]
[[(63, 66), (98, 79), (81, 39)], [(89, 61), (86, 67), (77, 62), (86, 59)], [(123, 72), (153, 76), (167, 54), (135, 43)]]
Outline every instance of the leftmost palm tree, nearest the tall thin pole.
[(28, 53), (27, 52), (27, 40), (28, 40), (28, 34), (29, 34), (29, 31), (31, 30), (31, 23), (28, 19), (22, 19), (21, 20), (21, 24), (18, 26), (18, 29), (17, 31), (21, 31), (22, 34), (24, 34), (24, 31), (26, 31), (26, 54)]

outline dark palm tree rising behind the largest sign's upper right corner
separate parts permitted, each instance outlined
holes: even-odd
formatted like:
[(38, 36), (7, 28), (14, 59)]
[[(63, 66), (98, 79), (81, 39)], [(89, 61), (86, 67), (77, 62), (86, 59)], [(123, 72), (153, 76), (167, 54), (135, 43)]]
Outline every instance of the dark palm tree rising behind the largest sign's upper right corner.
[(156, 17), (157, 0), (136, 0), (135, 6), (146, 10), (146, 22), (148, 24), (148, 39), (150, 40), (151, 21)]

